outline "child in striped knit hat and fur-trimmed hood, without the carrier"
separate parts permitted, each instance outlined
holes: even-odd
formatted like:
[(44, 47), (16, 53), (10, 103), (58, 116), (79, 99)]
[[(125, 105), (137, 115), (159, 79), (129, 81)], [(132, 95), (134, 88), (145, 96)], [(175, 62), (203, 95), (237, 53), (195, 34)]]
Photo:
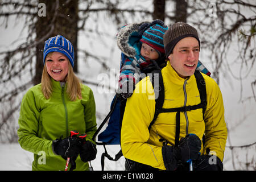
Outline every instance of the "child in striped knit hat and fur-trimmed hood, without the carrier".
[(164, 22), (157, 19), (127, 24), (118, 32), (117, 43), (122, 56), (117, 92), (123, 98), (133, 94), (141, 73), (165, 66), (163, 35), (167, 29)]

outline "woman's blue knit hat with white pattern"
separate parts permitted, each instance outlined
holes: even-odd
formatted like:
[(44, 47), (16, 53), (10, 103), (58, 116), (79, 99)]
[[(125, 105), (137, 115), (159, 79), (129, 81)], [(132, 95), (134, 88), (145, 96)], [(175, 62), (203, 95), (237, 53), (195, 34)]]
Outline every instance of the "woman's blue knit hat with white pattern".
[(60, 52), (68, 57), (72, 67), (74, 67), (75, 55), (74, 48), (72, 43), (64, 38), (64, 36), (56, 35), (52, 38), (49, 38), (44, 43), (44, 61), (49, 52)]

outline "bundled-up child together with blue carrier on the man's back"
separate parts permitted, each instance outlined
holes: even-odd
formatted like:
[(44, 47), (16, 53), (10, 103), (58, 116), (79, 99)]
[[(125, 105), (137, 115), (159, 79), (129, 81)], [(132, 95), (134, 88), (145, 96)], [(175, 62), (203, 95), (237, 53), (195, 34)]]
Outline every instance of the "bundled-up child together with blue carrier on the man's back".
[[(119, 30), (116, 36), (117, 45), (122, 51), (119, 88), (112, 101), (112, 111), (110, 111), (112, 114), (107, 115), (108, 127), (98, 135), (99, 141), (106, 144), (120, 143), (121, 121), (126, 99), (133, 94), (135, 84), (139, 82), (142, 73), (147, 74), (166, 65), (163, 35), (167, 29), (162, 20), (154, 20), (127, 24)], [(105, 122), (108, 120), (107, 117), (104, 119)], [(99, 128), (101, 129), (101, 126)]]

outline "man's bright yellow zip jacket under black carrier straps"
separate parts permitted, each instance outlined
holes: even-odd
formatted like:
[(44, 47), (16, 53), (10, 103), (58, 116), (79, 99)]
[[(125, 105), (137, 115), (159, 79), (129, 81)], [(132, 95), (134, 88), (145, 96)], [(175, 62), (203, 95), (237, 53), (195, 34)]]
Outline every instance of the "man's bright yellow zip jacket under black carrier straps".
[[(195, 75), (187, 79), (179, 77), (169, 61), (162, 69), (162, 75), (165, 94), (163, 108), (200, 104)], [(203, 73), (202, 75), (207, 90), (205, 121), (202, 109), (181, 112), (180, 139), (191, 133), (202, 139), (205, 133), (205, 146), (203, 147), (202, 142), (201, 154), (206, 154), (206, 149), (209, 148), (222, 161), (228, 135), (222, 95), (216, 82), (209, 76)], [(122, 121), (121, 148), (125, 158), (165, 170), (162, 156), (163, 142), (159, 142), (159, 139), (166, 139), (168, 144), (174, 145), (176, 113), (160, 113), (149, 132), (148, 126), (154, 117), (154, 112), (154, 89), (150, 78), (146, 77), (136, 85), (133, 96), (127, 100)]]

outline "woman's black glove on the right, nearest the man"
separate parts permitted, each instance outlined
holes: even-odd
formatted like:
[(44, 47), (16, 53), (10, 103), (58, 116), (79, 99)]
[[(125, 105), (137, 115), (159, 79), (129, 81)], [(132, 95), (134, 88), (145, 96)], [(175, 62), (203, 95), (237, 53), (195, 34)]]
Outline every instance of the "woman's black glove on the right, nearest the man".
[(86, 163), (96, 158), (97, 149), (96, 145), (90, 141), (86, 141), (80, 147), (80, 158), (82, 162)]

